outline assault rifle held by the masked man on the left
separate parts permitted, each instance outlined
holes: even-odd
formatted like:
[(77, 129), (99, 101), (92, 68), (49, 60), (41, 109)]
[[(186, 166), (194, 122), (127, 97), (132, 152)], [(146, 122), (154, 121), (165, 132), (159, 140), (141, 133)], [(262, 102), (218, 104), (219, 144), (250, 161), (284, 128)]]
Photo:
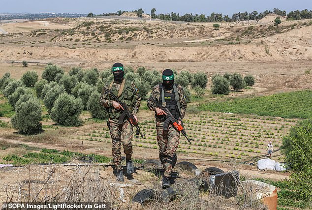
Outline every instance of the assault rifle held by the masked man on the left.
[(109, 94), (117, 103), (119, 103), (124, 108), (124, 110), (121, 110), (121, 111), (123, 111), (123, 114), (120, 115), (118, 123), (119, 124), (123, 124), (123, 122), (125, 120), (125, 117), (126, 117), (128, 119), (128, 121), (130, 123), (132, 121), (131, 124), (136, 127), (136, 135), (140, 134), (141, 137), (144, 138), (144, 135), (140, 131), (140, 127), (138, 125), (138, 122), (135, 120), (134, 116), (131, 114), (131, 112), (130, 112), (129, 108), (127, 107), (127, 105), (124, 102), (120, 101), (118, 99), (118, 97), (113, 93), (112, 90), (107, 90), (104, 87), (104, 91), (105, 91), (106, 94)]

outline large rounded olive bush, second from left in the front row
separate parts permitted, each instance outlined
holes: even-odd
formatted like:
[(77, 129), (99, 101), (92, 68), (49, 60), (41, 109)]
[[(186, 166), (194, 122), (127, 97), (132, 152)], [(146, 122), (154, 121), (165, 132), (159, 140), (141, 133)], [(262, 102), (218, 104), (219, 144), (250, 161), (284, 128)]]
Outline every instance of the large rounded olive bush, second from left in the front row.
[(82, 110), (83, 104), (80, 98), (62, 93), (54, 102), (51, 119), (64, 126), (80, 126), (82, 120), (79, 119), (79, 116)]

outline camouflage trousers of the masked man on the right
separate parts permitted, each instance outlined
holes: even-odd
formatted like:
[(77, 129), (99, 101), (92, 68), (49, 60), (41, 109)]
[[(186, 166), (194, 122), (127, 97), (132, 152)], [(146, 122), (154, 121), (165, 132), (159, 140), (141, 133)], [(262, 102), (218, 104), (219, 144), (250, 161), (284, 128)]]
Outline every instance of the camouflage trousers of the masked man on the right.
[(164, 176), (170, 177), (171, 171), (177, 162), (177, 149), (180, 132), (169, 125), (168, 137), (163, 139), (163, 122), (156, 121), (157, 142), (159, 146), (159, 159), (165, 169)]

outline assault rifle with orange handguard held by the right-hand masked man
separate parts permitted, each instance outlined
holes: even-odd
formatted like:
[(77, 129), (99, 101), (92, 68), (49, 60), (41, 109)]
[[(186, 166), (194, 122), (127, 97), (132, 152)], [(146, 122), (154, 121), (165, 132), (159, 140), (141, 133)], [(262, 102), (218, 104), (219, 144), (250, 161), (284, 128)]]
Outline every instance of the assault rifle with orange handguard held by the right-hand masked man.
[[(191, 140), (192, 139), (189, 139), (187, 137), (187, 132), (185, 131), (184, 129), (184, 125), (183, 125), (183, 122), (181, 120), (181, 124), (179, 124), (178, 120), (171, 114), (171, 112), (168, 110), (168, 108), (166, 107), (163, 107), (161, 106), (160, 104), (158, 104), (158, 102), (155, 100), (155, 98), (153, 97), (150, 97), (148, 99), (148, 101), (152, 101), (156, 104), (156, 107), (161, 109), (162, 111), (164, 111), (167, 115), (165, 116), (166, 117), (166, 120), (163, 124), (163, 135), (164, 136), (167, 136), (168, 134), (168, 126), (169, 126), (169, 123), (172, 123), (173, 127), (178, 130), (178, 131), (181, 131), (181, 133), (184, 135), (184, 137), (187, 139), (187, 141), (189, 142), (189, 144), (191, 144)], [(166, 138), (166, 137), (164, 137)]]

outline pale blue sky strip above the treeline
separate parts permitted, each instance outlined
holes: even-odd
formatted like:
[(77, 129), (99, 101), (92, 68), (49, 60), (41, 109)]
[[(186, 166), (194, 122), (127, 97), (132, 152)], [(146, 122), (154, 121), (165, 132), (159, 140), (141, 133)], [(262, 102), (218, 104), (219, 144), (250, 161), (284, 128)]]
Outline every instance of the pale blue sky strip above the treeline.
[(118, 10), (131, 11), (143, 8), (150, 13), (156, 8), (156, 14), (177, 12), (180, 14), (206, 14), (212, 12), (231, 15), (236, 12), (279, 8), (293, 10), (312, 9), (312, 0), (0, 0), (0, 13), (10, 12), (56, 12), (102, 14)]

